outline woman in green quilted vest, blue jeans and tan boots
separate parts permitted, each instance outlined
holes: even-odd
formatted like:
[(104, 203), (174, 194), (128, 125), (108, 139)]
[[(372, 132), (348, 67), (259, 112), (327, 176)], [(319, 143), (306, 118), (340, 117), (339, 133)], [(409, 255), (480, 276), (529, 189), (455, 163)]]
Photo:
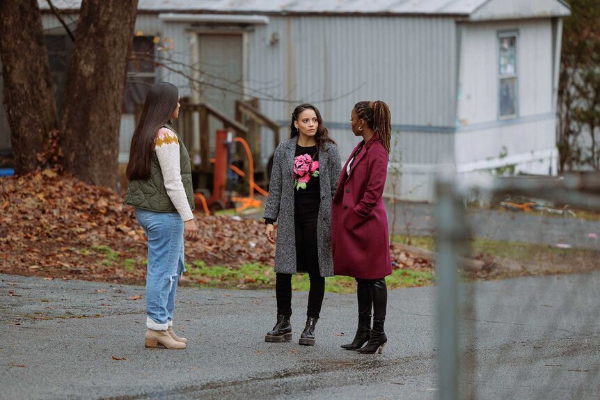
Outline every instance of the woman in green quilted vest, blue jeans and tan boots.
[(132, 138), (125, 193), (148, 237), (145, 346), (166, 349), (187, 344), (173, 331), (173, 313), (177, 280), (185, 271), (183, 241), (198, 234), (189, 155), (173, 127), (179, 109), (176, 86), (152, 87)]

